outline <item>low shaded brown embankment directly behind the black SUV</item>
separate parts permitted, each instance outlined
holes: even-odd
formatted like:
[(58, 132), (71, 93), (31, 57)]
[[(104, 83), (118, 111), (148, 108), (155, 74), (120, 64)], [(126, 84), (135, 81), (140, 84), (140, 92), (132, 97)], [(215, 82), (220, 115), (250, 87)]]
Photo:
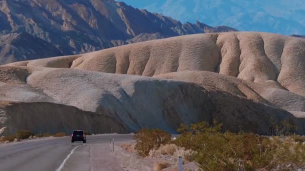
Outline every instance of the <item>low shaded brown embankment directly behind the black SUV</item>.
[(76, 107), (50, 102), (0, 102), (0, 125), (8, 128), (4, 135), (20, 129), (56, 133), (71, 129), (84, 129), (90, 132), (126, 133), (127, 128), (113, 117), (82, 111)]

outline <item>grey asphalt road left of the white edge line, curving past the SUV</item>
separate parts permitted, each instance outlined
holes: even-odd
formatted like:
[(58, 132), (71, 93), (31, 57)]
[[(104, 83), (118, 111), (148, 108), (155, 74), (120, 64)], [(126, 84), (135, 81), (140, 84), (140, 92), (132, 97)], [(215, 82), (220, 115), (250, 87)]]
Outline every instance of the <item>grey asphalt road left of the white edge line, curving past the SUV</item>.
[[(132, 140), (131, 134), (87, 136), (86, 145), (109, 142), (114, 137), (116, 142)], [(16, 143), (0, 144), (0, 170), (56, 170), (76, 146), (82, 142), (71, 143), (70, 137), (34, 139)], [(77, 148), (75, 149), (77, 151)], [(73, 155), (73, 154), (72, 154)], [(71, 157), (73, 157), (71, 155)], [(86, 166), (86, 161), (78, 163)], [(69, 167), (66, 165), (65, 168)], [(62, 169), (67, 170), (67, 169)]]

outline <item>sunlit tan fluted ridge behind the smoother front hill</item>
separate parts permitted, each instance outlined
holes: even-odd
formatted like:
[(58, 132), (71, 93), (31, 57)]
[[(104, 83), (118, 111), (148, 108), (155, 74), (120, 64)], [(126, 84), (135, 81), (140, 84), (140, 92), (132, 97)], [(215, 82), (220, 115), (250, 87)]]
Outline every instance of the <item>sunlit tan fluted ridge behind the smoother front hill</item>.
[(300, 38), (261, 32), (228, 32), (151, 40), (78, 56), (13, 65), (71, 67), (143, 76), (206, 70), (258, 83), (273, 80), (274, 84), (305, 95), (304, 56), (305, 40)]

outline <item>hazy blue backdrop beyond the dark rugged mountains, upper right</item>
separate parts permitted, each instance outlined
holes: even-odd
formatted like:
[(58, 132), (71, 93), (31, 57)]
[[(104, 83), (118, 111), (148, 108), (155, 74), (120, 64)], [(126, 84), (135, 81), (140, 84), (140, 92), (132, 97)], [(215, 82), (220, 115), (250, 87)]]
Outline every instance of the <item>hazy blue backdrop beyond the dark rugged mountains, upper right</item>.
[(182, 22), (242, 31), (305, 34), (305, 0), (120, 0)]

